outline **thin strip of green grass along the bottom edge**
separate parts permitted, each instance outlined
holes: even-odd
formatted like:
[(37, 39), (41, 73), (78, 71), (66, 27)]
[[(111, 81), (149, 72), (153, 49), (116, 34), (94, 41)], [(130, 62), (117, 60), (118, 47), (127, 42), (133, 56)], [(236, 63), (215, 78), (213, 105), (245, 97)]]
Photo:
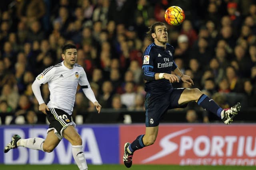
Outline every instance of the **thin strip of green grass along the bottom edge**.
[[(178, 166), (178, 165), (88, 165), (88, 170), (255, 170), (255, 166)], [(4, 165), (0, 170), (79, 170), (76, 165)]]

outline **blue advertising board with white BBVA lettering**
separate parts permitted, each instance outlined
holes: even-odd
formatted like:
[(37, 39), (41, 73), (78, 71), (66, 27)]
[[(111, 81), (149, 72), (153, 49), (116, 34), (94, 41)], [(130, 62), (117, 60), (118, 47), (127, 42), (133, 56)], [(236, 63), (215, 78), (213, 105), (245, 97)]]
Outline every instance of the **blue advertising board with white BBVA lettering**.
[[(0, 126), (0, 146), (4, 150), (14, 134), (22, 138), (46, 138), (48, 125)], [(118, 125), (77, 125), (76, 129), (83, 141), (83, 149), (88, 164), (119, 163)], [(0, 152), (0, 164), (74, 164), (71, 144), (62, 139), (51, 153), (24, 147)]]

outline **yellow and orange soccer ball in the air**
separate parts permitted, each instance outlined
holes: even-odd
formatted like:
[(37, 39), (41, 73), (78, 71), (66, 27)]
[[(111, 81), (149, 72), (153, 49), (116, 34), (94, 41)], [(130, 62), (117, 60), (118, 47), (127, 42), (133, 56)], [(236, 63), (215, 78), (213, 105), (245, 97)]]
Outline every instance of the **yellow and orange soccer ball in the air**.
[(170, 6), (164, 13), (164, 19), (169, 25), (180, 25), (185, 20), (185, 13), (179, 6)]

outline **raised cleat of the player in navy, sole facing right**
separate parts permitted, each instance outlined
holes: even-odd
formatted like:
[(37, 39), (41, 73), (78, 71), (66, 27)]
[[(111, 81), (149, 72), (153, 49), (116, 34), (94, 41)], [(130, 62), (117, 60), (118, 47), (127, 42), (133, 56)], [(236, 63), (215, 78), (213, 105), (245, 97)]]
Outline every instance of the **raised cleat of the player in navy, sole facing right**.
[(231, 124), (233, 118), (237, 115), (240, 109), (241, 105), (239, 102), (236, 105), (230, 107), (229, 109), (223, 109), (221, 113), (222, 121), (227, 125)]

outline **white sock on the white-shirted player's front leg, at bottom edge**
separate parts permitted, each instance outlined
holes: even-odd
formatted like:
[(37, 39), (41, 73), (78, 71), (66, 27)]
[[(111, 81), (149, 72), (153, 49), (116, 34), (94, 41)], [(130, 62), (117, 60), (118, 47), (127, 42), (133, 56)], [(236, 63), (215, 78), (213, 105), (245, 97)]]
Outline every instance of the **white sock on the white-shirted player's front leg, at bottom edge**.
[(78, 146), (72, 145), (73, 157), (80, 170), (88, 170), (88, 166), (87, 166), (82, 148), (83, 148), (82, 145), (78, 145)]

